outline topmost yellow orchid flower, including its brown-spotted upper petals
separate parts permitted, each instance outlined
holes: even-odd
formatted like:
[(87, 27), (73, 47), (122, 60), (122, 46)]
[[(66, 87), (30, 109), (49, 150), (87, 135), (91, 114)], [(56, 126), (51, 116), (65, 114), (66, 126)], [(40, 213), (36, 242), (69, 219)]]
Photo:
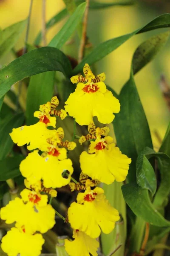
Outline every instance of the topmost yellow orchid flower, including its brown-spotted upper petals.
[[(88, 64), (84, 66), (83, 76), (73, 76), (71, 81), (77, 83), (74, 93), (71, 93), (65, 102), (65, 110), (76, 119), (79, 125), (89, 125), (93, 116), (97, 116), (99, 122), (111, 123), (113, 113), (119, 113), (120, 104), (111, 91), (106, 89), (105, 73), (94, 76)], [(86, 82), (84, 84), (83, 82)]]

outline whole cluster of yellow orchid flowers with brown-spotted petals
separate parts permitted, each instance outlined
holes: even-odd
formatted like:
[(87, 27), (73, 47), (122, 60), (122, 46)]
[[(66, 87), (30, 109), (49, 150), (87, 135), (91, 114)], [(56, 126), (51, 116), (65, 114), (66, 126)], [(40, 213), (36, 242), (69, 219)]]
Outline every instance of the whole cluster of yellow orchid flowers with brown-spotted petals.
[[(68, 255), (97, 256), (96, 238), (101, 230), (108, 234), (119, 221), (119, 212), (111, 207), (98, 185), (124, 181), (131, 159), (113, 143), (108, 127), (95, 126), (93, 117), (109, 124), (115, 117), (113, 113), (119, 113), (120, 104), (106, 88), (105, 73), (94, 76), (88, 64), (83, 71), (85, 76), (71, 77), (77, 88), (65, 102), (65, 110), (56, 109), (59, 100), (54, 96), (34, 113), (39, 119), (36, 124), (14, 128), (10, 134), (14, 143), (27, 144), (31, 152), (20, 163), (20, 172), (26, 178), (21, 198), (16, 197), (0, 211), (1, 219), (7, 224), (15, 223), (2, 239), (2, 250), (8, 256), (40, 255), (44, 244), (42, 234), (55, 224), (56, 212), (48, 196), (56, 197), (56, 188), (68, 184), (71, 191), (79, 191), (77, 202), (71, 203), (68, 209), (68, 223), (73, 229), (72, 241), (65, 239)], [(81, 145), (85, 141), (90, 141), (90, 145), (88, 152), (80, 155), (82, 172), (77, 183), (71, 181), (74, 170), (67, 154), (68, 150), (74, 150), (76, 143), (63, 141), (63, 129), (56, 128), (57, 116), (65, 119), (67, 113), (79, 125), (88, 125), (89, 133), (79, 137)], [(49, 126), (53, 129), (48, 129)], [(65, 170), (67, 178), (63, 175)]]

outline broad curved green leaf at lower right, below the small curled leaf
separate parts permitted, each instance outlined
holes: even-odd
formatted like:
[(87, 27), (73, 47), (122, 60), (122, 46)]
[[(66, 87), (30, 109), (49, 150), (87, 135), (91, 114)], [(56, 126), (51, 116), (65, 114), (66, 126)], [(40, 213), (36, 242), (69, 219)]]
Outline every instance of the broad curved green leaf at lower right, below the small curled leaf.
[(170, 221), (164, 219), (153, 207), (147, 189), (142, 189), (136, 183), (130, 183), (122, 186), (122, 193), (126, 203), (138, 217), (157, 227), (170, 226)]

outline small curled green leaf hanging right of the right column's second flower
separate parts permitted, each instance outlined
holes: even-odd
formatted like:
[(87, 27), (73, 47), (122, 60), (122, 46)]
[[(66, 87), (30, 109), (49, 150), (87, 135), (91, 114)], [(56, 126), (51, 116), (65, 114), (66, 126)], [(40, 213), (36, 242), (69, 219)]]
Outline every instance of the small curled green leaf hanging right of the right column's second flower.
[(153, 149), (145, 148), (136, 160), (137, 183), (142, 189), (148, 189), (152, 195), (156, 192), (156, 175), (148, 159), (154, 153)]

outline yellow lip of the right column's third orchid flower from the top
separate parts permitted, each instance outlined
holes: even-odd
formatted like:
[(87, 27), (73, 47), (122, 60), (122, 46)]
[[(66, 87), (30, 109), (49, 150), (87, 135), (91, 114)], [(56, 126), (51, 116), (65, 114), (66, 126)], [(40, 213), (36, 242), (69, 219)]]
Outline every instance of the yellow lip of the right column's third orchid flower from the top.
[(72, 203), (68, 209), (71, 227), (91, 238), (97, 238), (101, 230), (105, 234), (110, 233), (119, 218), (119, 212), (111, 207), (105, 199), (104, 190), (99, 187), (79, 193), (77, 203)]

